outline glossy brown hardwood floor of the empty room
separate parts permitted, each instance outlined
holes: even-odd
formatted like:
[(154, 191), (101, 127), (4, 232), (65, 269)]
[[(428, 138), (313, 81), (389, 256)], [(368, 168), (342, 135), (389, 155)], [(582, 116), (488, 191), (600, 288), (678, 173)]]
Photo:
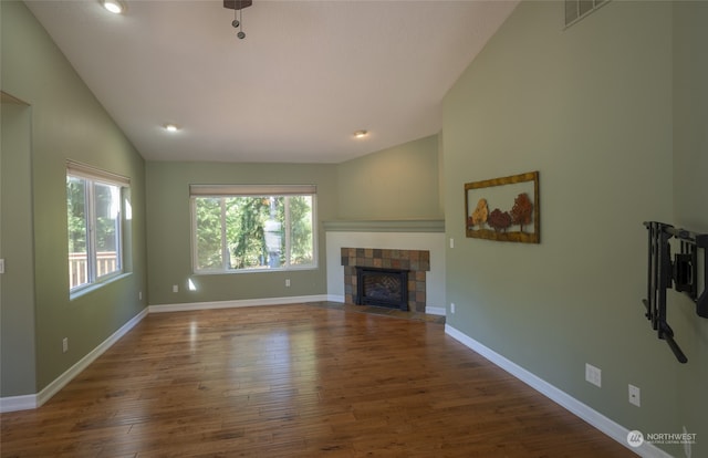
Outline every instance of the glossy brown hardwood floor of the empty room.
[(150, 314), (2, 457), (627, 457), (425, 321), (306, 304)]

